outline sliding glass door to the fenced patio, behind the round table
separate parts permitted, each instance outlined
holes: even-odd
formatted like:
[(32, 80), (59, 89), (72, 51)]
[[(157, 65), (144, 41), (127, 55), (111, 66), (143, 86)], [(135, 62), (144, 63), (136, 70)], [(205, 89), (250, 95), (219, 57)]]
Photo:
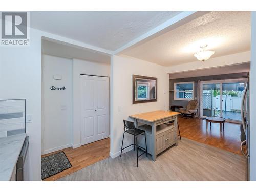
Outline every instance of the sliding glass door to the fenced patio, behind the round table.
[(200, 116), (219, 116), (241, 121), (241, 102), (246, 79), (202, 81)]

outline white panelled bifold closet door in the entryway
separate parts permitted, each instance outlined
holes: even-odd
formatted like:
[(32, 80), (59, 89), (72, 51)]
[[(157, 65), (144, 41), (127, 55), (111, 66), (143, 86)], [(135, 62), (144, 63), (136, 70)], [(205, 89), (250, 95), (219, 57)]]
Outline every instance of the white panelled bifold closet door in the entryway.
[(81, 144), (109, 135), (109, 78), (81, 75)]

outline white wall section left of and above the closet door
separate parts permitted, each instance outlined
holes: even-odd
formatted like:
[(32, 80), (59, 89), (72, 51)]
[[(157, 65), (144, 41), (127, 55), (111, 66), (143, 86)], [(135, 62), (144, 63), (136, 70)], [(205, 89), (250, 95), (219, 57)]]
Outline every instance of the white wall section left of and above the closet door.
[(73, 59), (73, 147), (81, 146), (80, 117), (81, 89), (80, 74), (110, 76), (110, 65)]

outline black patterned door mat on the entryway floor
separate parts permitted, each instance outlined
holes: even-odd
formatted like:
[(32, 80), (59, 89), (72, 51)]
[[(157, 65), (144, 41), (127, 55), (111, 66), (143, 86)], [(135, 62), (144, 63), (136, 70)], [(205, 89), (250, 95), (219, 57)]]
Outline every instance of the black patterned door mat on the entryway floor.
[(72, 167), (69, 159), (64, 152), (55, 153), (42, 157), (41, 159), (41, 169), (42, 169), (42, 179), (51, 177), (63, 170)]

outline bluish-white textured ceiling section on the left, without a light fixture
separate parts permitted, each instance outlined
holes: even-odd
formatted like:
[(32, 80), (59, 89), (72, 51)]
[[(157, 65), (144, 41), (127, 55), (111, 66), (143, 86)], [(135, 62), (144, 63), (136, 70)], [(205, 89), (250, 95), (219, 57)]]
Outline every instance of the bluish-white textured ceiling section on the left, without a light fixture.
[(35, 11), (30, 26), (114, 51), (178, 11)]

